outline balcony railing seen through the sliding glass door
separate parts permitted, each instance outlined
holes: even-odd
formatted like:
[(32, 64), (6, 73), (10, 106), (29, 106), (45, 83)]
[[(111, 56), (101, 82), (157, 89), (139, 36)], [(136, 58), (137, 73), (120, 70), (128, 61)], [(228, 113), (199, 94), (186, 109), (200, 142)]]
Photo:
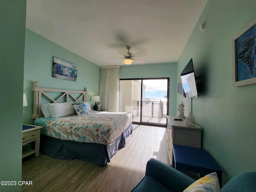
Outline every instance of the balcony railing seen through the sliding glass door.
[[(141, 101), (132, 101), (133, 115), (140, 116)], [(166, 118), (167, 102), (142, 101), (142, 116)]]

